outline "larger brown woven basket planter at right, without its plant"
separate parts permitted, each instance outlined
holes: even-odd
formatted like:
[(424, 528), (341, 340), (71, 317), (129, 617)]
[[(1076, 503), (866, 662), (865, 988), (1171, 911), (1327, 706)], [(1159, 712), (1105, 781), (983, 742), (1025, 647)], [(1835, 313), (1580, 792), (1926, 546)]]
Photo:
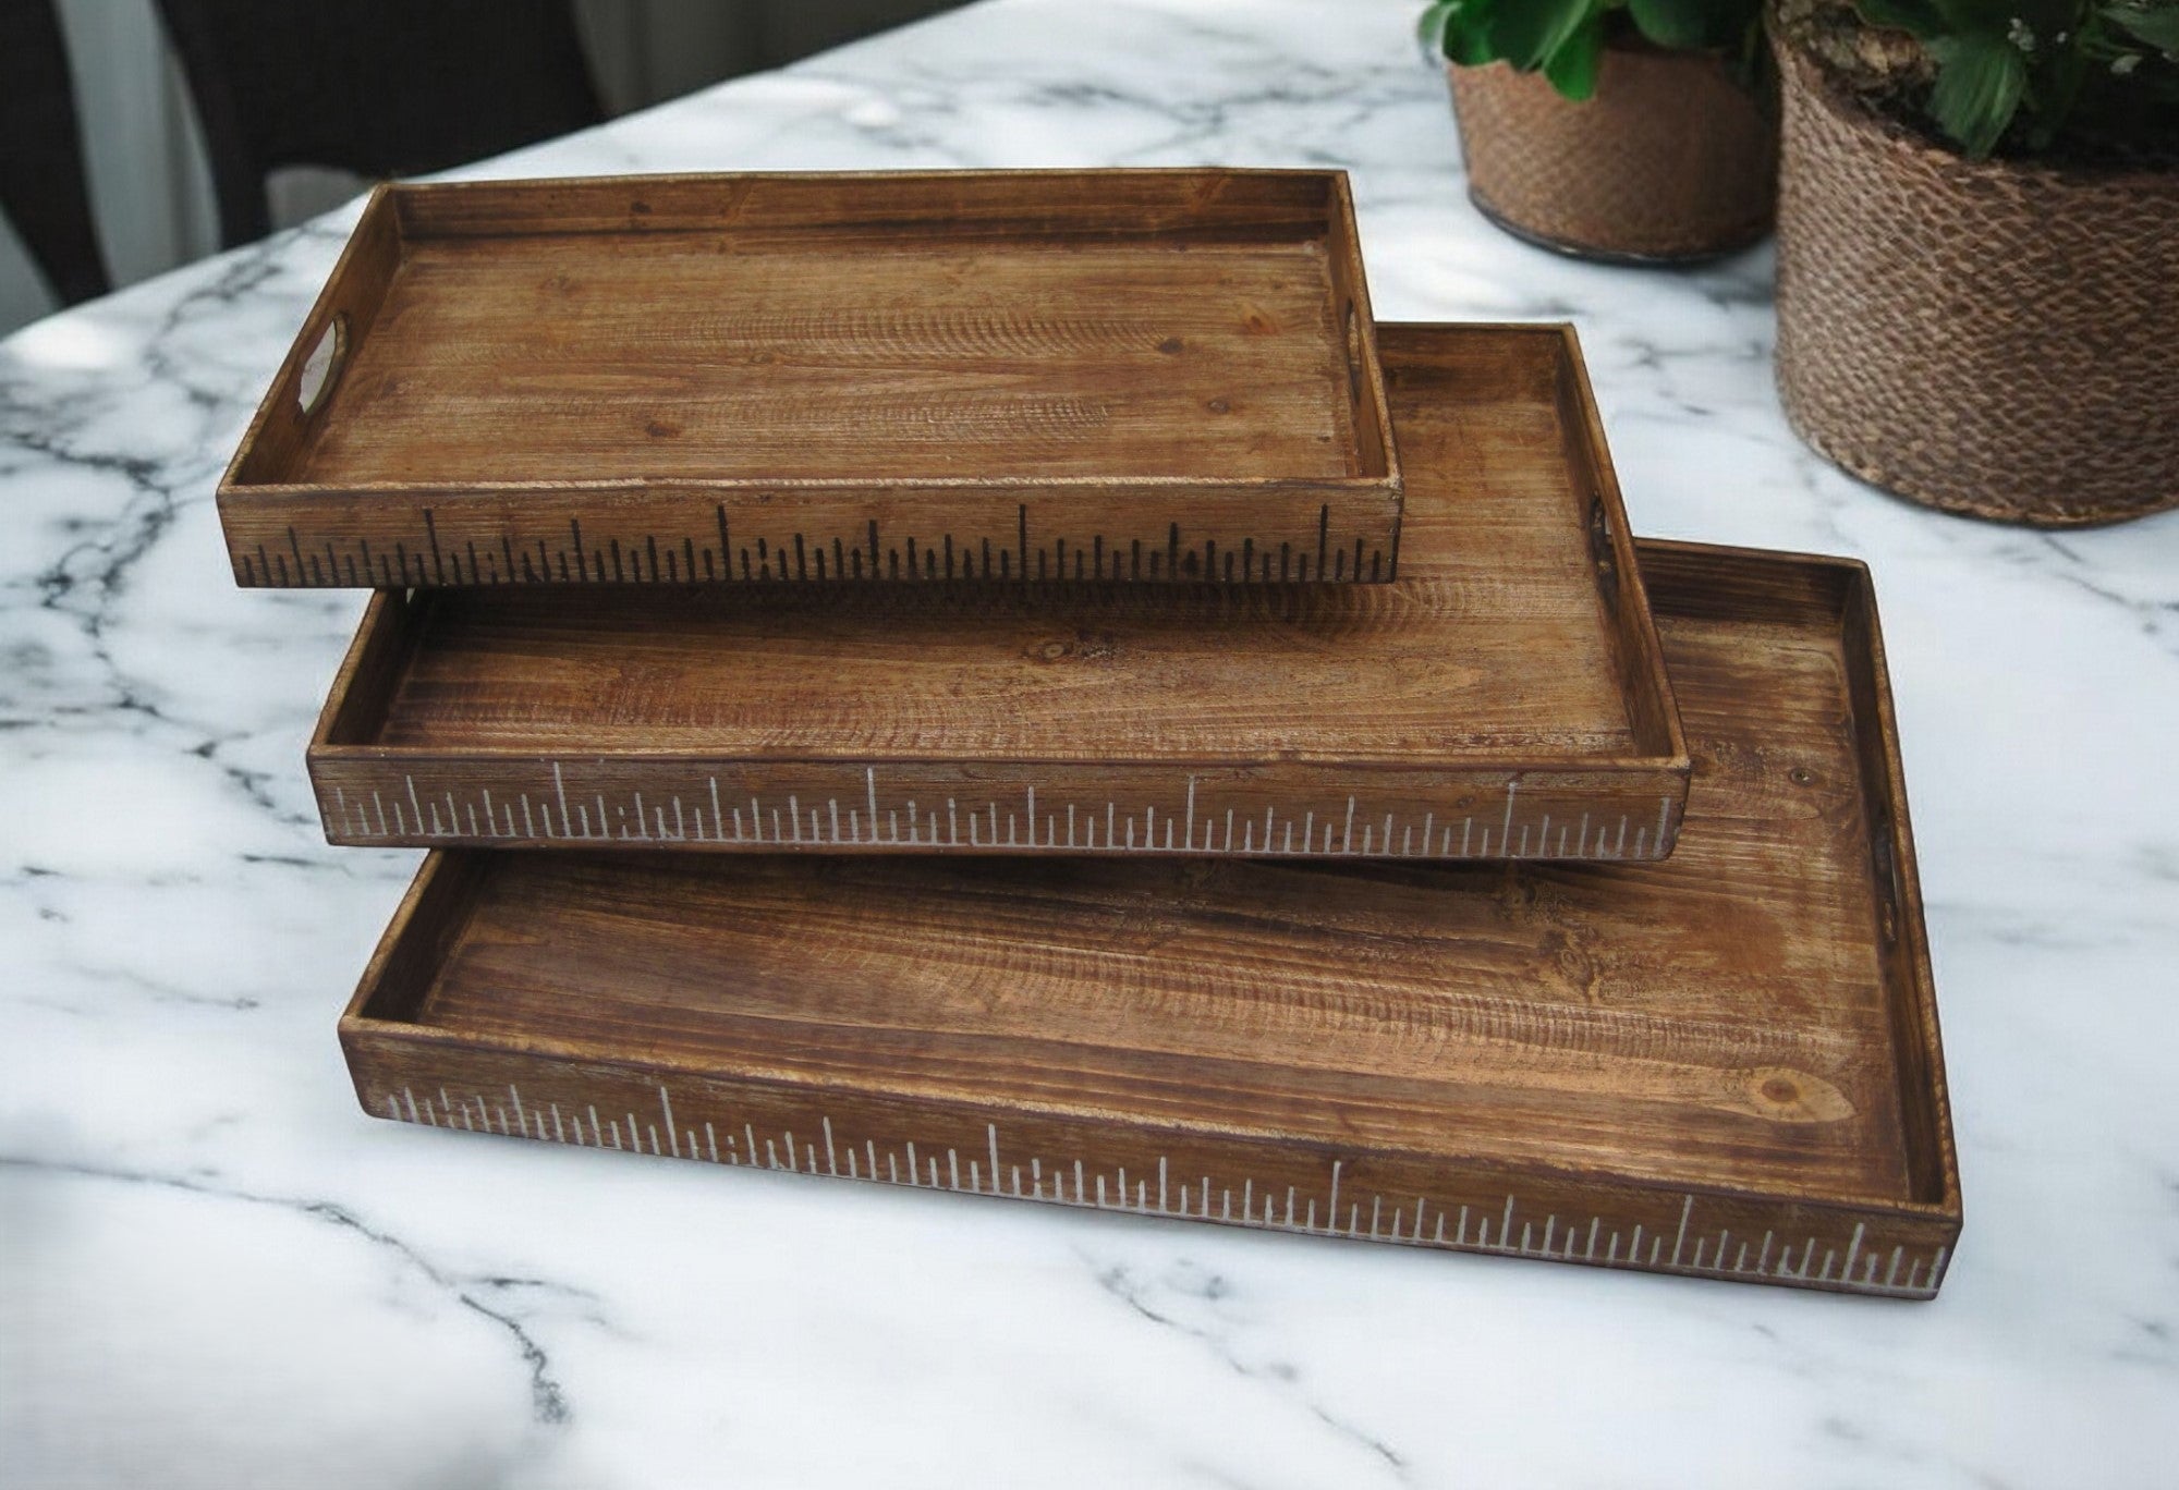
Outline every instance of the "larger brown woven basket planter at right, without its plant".
[(2179, 172), (1968, 161), (1778, 48), (1778, 392), (1900, 497), (2085, 527), (2179, 505)]

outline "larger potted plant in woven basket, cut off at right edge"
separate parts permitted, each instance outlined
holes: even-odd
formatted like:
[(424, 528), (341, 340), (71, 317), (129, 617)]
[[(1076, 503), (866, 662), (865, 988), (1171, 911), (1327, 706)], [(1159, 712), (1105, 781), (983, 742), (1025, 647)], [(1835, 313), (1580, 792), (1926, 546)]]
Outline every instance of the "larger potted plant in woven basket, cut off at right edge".
[(1776, 54), (1800, 436), (1952, 512), (2179, 505), (2179, 0), (1795, 0)]

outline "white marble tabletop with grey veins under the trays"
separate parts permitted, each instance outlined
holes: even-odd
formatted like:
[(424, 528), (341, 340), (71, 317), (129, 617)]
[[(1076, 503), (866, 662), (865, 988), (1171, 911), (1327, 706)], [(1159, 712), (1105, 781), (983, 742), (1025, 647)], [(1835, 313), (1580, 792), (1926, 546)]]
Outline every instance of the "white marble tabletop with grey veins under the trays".
[(346, 218), (0, 344), (0, 1481), (2170, 1486), (2179, 516), (2035, 536), (1809, 457), (1769, 257), (1464, 205), (1405, 0), (976, 7), (495, 163), (1325, 163), (1384, 318), (1571, 318), (1643, 532), (1867, 558), (1968, 1231), (1791, 1294), (721, 1174), (366, 1120), (333, 1015), (414, 858), (318, 836), (360, 595), (214, 479)]

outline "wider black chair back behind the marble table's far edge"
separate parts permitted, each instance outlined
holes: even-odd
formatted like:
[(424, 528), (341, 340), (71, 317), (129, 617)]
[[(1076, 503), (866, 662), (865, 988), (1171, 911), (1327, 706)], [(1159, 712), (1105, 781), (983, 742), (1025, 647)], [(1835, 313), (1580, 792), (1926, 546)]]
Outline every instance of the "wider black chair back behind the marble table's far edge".
[(567, 0), (159, 0), (205, 126), (220, 242), (272, 231), (266, 176), (412, 176), (597, 124)]

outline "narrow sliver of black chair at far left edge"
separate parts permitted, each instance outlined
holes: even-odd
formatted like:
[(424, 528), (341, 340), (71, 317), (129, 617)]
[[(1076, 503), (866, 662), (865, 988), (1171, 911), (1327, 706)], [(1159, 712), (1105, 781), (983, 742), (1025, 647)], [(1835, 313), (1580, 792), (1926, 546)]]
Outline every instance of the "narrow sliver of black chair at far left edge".
[(111, 290), (52, 0), (0, 0), (0, 209), (63, 305)]

